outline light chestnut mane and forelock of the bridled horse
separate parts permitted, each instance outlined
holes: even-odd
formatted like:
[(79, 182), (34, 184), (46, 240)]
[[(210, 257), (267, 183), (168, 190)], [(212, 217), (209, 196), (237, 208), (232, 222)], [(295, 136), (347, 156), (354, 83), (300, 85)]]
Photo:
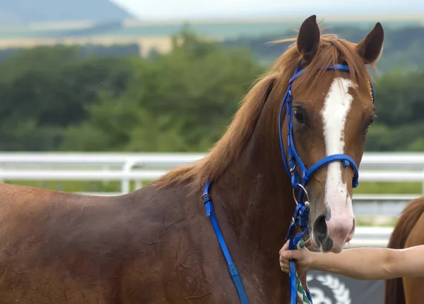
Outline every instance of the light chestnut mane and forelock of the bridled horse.
[[(272, 44), (293, 42), (293, 44), (273, 63), (267, 73), (256, 80), (251, 90), (242, 99), (240, 109), (235, 113), (223, 137), (213, 145), (206, 157), (194, 164), (168, 172), (152, 183), (153, 186), (162, 188), (184, 182), (188, 183), (193, 191), (200, 191), (206, 181), (215, 181), (235, 162), (235, 159), (240, 157), (256, 128), (262, 107), (270, 93), (268, 91), (272, 88), (278, 90), (276, 96), (282, 97), (296, 66), (299, 63), (302, 64), (302, 55), (298, 51), (296, 41), (297, 38), (292, 37), (270, 42)], [(293, 83), (293, 90), (301, 85), (302, 92), (310, 93), (319, 83), (326, 68), (338, 63), (349, 66), (351, 80), (358, 85), (355, 90), (369, 92), (368, 80), (371, 80), (371, 76), (356, 50), (356, 44), (339, 39), (337, 35), (321, 35), (320, 47), (316, 56), (305, 67), (305, 71), (298, 77), (298, 80)], [(320, 67), (322, 68), (319, 69)], [(375, 66), (372, 65), (372, 68)], [(336, 71), (336, 73), (339, 72)], [(277, 109), (281, 99), (273, 102), (276, 103)]]

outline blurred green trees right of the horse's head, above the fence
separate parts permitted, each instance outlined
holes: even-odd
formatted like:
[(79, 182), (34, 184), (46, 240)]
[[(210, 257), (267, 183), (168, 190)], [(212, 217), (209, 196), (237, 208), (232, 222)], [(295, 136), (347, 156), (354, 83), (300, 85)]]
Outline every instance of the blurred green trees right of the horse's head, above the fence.
[(367, 150), (424, 150), (424, 71), (384, 75), (375, 85), (377, 119)]

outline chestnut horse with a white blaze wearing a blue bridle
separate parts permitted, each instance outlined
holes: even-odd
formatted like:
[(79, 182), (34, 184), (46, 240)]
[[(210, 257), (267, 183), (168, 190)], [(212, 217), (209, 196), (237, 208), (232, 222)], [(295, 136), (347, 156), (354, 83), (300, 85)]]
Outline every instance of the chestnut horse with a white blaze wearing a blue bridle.
[[(379, 58), (383, 36), (377, 23), (354, 44), (321, 35), (315, 16), (307, 18), (211, 152), (133, 193), (2, 184), (0, 303), (239, 303), (201, 200), (206, 181), (250, 303), (287, 303), (278, 250), (295, 202), (278, 109), (289, 78), (305, 69), (293, 83), (293, 137), (305, 166), (337, 153), (360, 164), (375, 115), (366, 65)], [(327, 71), (335, 64), (351, 73)], [(310, 231), (324, 251), (340, 252), (353, 236), (352, 176), (350, 166), (332, 162), (307, 184)]]

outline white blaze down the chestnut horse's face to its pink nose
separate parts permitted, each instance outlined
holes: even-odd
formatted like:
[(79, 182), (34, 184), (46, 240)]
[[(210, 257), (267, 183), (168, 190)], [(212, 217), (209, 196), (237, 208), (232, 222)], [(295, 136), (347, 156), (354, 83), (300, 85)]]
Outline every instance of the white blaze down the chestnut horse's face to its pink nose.
[[(353, 96), (348, 92), (350, 87), (353, 87), (351, 80), (334, 78), (326, 96), (321, 112), (326, 156), (344, 154), (346, 118), (353, 100)], [(344, 244), (348, 233), (353, 233), (352, 198), (348, 195), (348, 187), (342, 180), (342, 166), (342, 162), (328, 164), (325, 183), (324, 202), (331, 210), (326, 224), (334, 245)]]

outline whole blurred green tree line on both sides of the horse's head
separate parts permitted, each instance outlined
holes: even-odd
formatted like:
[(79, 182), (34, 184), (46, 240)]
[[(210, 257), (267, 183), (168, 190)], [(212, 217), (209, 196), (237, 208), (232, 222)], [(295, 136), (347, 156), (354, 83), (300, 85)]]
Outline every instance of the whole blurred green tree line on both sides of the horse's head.
[[(60, 45), (20, 50), (0, 63), (0, 149), (204, 152), (263, 72), (248, 48), (206, 42), (187, 28), (172, 37), (169, 53), (147, 58), (87, 56)], [(424, 149), (423, 83), (424, 71), (377, 78), (367, 150)]]

